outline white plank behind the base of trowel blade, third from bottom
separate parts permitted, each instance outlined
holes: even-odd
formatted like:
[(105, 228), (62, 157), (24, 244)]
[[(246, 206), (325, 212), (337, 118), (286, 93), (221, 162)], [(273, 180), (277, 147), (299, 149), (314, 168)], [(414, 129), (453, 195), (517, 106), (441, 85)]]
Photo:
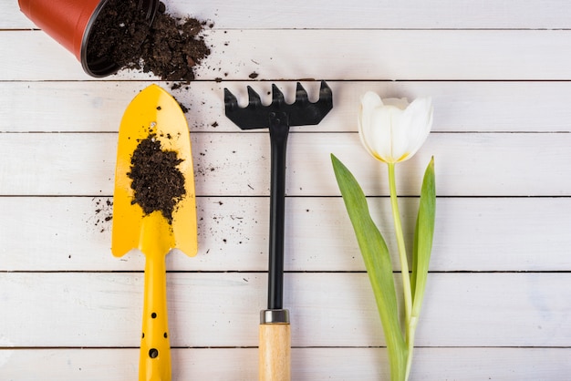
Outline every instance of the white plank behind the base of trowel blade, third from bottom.
[[(0, 197), (0, 271), (140, 271), (137, 252), (110, 252), (109, 197)], [(167, 256), (171, 271), (262, 272), (267, 267), (269, 199), (199, 197), (198, 255)], [(388, 198), (369, 198), (398, 263)], [(400, 200), (412, 242), (418, 199)], [(285, 201), (286, 271), (365, 271), (340, 198)], [(569, 198), (439, 198), (431, 258), (435, 272), (571, 271)], [(37, 243), (29, 247), (25, 243)], [(546, 249), (548, 248), (548, 250)], [(395, 264), (399, 270), (399, 265)], [(498, 275), (500, 276), (500, 275)]]

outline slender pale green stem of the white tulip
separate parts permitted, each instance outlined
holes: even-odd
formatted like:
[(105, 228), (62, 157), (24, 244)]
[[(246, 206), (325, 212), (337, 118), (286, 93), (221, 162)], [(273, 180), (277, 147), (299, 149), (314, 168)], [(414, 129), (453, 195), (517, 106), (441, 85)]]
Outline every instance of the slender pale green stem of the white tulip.
[[(392, 206), (392, 218), (395, 222), (395, 235), (399, 246), (400, 273), (402, 274), (402, 292), (404, 293), (405, 326), (407, 327), (407, 338), (409, 334), (410, 314), (412, 312), (412, 293), (410, 292), (409, 259), (407, 249), (404, 245), (402, 234), (402, 223), (400, 222), (399, 201), (397, 200), (397, 184), (395, 181), (395, 163), (389, 164), (389, 189), (390, 205)], [(408, 341), (408, 340), (407, 340)]]

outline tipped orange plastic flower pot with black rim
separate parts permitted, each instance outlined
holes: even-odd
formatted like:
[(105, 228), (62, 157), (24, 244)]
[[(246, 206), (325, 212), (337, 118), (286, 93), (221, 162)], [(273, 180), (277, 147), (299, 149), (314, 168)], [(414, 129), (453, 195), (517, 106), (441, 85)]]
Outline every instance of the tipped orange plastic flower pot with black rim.
[[(89, 33), (108, 0), (18, 0), (20, 10), (36, 26), (44, 30), (59, 44), (66, 47), (81, 62), (92, 77), (105, 77), (119, 70), (119, 65), (109, 57), (88, 59)], [(159, 7), (159, 0), (139, 0), (146, 12), (146, 20), (152, 23)]]

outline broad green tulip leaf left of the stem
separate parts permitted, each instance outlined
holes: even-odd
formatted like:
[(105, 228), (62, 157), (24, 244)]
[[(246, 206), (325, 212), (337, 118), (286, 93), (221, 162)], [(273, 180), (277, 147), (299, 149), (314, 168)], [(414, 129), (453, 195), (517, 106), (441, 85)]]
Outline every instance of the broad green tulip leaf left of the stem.
[(358, 185), (358, 181), (333, 154), (331, 154), (331, 161), (377, 302), (389, 352), (391, 379), (403, 380), (406, 372), (408, 349), (400, 327), (397, 293), (389, 249), (370, 216), (367, 198)]

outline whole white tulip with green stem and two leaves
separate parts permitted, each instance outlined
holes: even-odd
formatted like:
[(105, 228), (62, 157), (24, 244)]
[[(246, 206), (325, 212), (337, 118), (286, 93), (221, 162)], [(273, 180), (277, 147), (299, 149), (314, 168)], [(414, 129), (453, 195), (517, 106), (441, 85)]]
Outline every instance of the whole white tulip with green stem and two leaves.
[[(417, 98), (409, 104), (406, 98), (381, 99), (371, 91), (361, 98), (358, 112), (359, 137), (365, 149), (375, 159), (387, 163), (389, 169), (390, 205), (402, 274), (402, 299), (399, 302), (395, 284), (392, 282), (393, 268), (389, 248), (373, 222), (367, 197), (347, 167), (331, 155), (337, 184), (353, 224), (377, 301), (389, 354), (390, 379), (395, 381), (406, 381), (410, 375), (414, 336), (429, 273), (436, 211), (432, 158), (424, 172), (420, 189), (420, 206), (410, 256), (412, 272), (409, 272), (409, 255), (400, 221), (395, 167), (398, 162), (409, 160), (420, 149), (428, 138), (431, 127), (431, 98)], [(400, 320), (399, 304), (404, 307), (404, 322)]]

